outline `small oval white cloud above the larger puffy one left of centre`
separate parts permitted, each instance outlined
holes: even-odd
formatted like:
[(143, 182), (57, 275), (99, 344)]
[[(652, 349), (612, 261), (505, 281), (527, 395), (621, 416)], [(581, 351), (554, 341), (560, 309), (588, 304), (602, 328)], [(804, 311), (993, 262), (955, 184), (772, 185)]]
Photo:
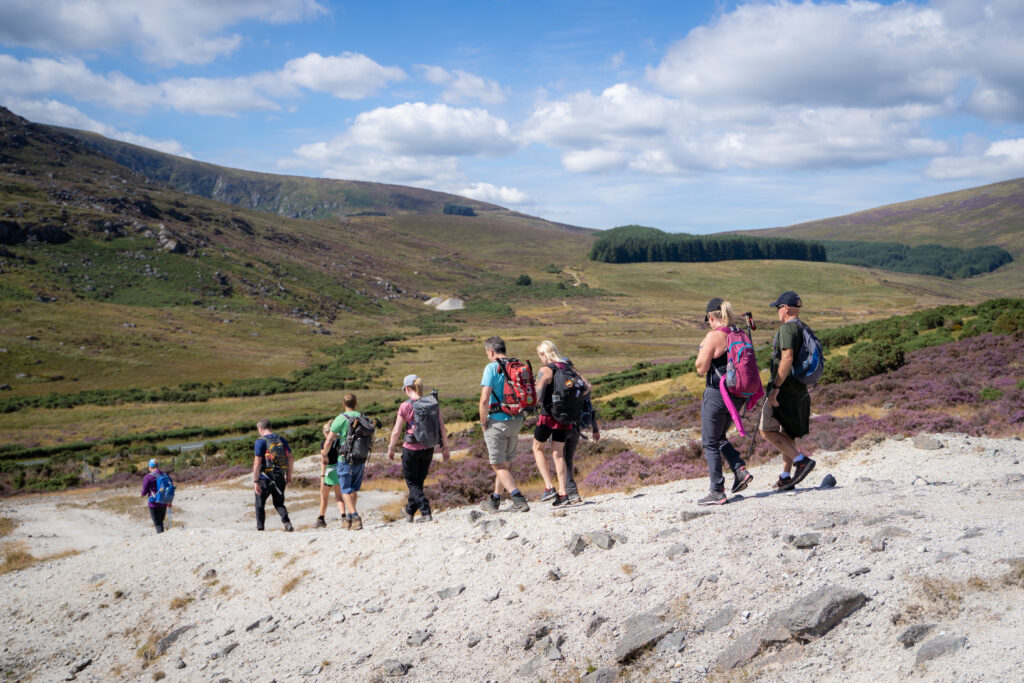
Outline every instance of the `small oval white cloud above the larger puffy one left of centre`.
[(365, 54), (345, 52), (325, 57), (310, 52), (289, 60), (282, 76), (286, 83), (309, 90), (330, 92), (342, 99), (361, 99), (389, 81), (404, 80), (406, 72), (397, 67), (382, 67)]

